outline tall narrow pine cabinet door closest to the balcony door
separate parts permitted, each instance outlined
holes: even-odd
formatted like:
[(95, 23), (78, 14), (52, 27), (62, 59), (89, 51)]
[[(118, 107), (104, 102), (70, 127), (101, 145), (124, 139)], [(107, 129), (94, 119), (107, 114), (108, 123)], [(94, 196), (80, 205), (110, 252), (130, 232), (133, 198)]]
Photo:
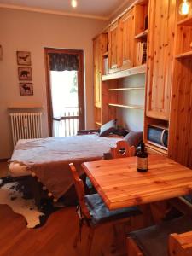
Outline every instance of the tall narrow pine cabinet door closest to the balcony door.
[(93, 41), (94, 55), (94, 104), (101, 107), (102, 55), (107, 51), (108, 36), (101, 34)]

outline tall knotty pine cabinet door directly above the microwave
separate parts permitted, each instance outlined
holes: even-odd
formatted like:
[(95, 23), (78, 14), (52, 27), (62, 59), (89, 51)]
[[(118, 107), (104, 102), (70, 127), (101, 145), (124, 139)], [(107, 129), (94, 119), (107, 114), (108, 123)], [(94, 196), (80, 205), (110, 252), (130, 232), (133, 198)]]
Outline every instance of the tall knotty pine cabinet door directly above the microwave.
[(169, 119), (176, 0), (149, 4), (146, 114)]

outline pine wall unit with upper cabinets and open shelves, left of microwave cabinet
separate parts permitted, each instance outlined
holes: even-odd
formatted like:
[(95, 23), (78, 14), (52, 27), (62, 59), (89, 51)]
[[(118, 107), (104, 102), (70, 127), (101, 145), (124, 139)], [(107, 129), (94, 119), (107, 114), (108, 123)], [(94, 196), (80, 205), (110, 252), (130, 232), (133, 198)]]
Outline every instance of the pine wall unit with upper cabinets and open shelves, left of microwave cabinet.
[[(94, 39), (95, 97), (101, 99), (95, 101), (95, 127), (100, 127), (110, 119), (119, 119), (119, 125), (128, 127), (137, 116), (139, 121), (134, 127), (137, 125), (142, 131), (147, 71), (148, 0), (136, 0), (132, 3), (111, 22), (105, 33), (108, 33), (105, 50), (96, 44), (101, 35)], [(102, 56), (101, 63), (97, 52)], [(96, 67), (98, 63), (100, 65)], [(101, 103), (101, 108), (98, 108), (96, 102)]]

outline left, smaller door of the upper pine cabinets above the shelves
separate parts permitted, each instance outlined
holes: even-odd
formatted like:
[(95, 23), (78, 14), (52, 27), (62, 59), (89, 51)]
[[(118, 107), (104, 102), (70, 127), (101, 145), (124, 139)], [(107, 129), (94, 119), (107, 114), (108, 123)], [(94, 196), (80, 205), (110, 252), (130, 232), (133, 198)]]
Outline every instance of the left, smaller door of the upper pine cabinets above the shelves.
[(108, 32), (108, 65), (109, 73), (117, 72), (118, 69), (118, 40), (119, 40), (119, 21), (110, 26)]

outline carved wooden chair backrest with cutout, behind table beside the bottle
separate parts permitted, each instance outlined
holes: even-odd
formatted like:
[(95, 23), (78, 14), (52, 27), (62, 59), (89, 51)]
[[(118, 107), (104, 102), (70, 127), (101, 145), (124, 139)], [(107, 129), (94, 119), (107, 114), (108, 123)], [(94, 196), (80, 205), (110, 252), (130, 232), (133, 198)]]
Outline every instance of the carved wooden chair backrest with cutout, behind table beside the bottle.
[(111, 154), (113, 158), (129, 157), (136, 154), (136, 148), (129, 146), (126, 141), (119, 141), (116, 143), (116, 148), (111, 148)]

